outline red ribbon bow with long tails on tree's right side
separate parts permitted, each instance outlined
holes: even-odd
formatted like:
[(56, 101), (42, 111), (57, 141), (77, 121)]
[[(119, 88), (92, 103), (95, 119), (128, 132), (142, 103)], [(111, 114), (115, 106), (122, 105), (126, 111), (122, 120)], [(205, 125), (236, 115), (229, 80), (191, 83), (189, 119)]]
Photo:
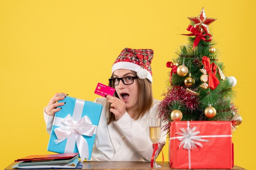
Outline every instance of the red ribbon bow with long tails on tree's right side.
[(204, 69), (209, 75), (209, 87), (214, 90), (220, 83), (218, 78), (215, 76), (217, 65), (215, 65), (215, 63), (210, 64), (210, 59), (206, 56), (203, 57), (202, 63), (204, 65)]

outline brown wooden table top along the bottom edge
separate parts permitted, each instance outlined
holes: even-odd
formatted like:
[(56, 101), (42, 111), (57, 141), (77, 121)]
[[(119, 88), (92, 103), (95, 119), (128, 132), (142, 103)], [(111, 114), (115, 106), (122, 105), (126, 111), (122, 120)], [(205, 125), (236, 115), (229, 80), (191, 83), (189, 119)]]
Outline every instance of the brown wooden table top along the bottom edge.
[[(16, 168), (11, 168), (17, 162), (11, 163), (4, 170), (17, 170)], [(155, 168), (157, 170), (172, 170), (168, 162), (157, 162), (162, 168)], [(91, 169), (91, 170), (148, 170), (153, 169), (150, 166), (150, 162), (136, 162), (136, 161), (84, 161), (82, 170)], [(70, 169), (67, 169), (70, 170)], [(76, 169), (79, 170), (79, 169)], [(197, 169), (197, 170), (206, 170), (206, 169)], [(213, 169), (211, 169), (213, 170)], [(218, 169), (225, 170), (225, 169)], [(234, 166), (232, 170), (245, 170), (239, 166)]]

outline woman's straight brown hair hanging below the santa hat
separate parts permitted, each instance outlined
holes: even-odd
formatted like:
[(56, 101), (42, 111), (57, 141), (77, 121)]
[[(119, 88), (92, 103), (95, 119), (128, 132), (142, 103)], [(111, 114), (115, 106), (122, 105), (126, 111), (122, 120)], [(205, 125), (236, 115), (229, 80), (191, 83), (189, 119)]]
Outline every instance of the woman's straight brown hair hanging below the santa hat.
[[(131, 72), (132, 74), (137, 75), (135, 71), (131, 71)], [(111, 78), (112, 77), (113, 77), (113, 74)], [(138, 101), (137, 101), (138, 110), (134, 117), (135, 120), (144, 116), (145, 113), (153, 105), (153, 91), (152, 91), (151, 82), (147, 78), (146, 79), (137, 78), (137, 80), (138, 80)], [(110, 87), (115, 88), (115, 86), (114, 85), (111, 86), (110, 83), (108, 85)], [(113, 96), (119, 98), (116, 92)], [(108, 105), (108, 111), (107, 111), (108, 123), (107, 124), (110, 124), (112, 121), (115, 120), (114, 113), (110, 112), (110, 109), (111, 109), (110, 104), (111, 103), (107, 103)]]

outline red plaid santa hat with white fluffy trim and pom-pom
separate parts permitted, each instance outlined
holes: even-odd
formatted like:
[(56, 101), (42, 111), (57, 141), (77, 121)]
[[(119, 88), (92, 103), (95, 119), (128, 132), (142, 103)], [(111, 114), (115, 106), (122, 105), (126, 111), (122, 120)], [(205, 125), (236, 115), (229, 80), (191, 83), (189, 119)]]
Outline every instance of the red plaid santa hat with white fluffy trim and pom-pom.
[(132, 70), (137, 72), (139, 78), (148, 78), (148, 80), (153, 83), (151, 70), (153, 56), (154, 51), (151, 49), (136, 50), (125, 48), (112, 65), (112, 74), (118, 69)]

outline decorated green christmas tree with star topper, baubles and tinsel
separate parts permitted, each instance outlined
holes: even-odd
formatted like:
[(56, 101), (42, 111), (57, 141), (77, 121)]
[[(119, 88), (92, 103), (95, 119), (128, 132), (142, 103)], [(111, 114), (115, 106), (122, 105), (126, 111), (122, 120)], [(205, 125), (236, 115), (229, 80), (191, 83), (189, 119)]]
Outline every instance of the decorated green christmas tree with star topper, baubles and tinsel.
[[(232, 87), (236, 78), (226, 77), (224, 64), (218, 59), (218, 49), (209, 33), (209, 24), (215, 18), (206, 17), (202, 8), (198, 17), (188, 17), (189, 44), (177, 50), (177, 58), (166, 63), (170, 71), (168, 89), (159, 105), (163, 120), (231, 121), (232, 129), (242, 122), (233, 103)], [(169, 131), (169, 124), (164, 130)]]

